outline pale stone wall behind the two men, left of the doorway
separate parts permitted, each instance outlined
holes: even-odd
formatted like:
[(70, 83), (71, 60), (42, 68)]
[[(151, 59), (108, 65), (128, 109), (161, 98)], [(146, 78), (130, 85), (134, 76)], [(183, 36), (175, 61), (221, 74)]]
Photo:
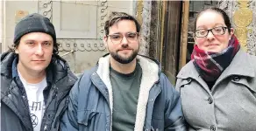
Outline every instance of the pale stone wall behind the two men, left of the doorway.
[[(110, 11), (123, 11), (135, 15), (135, 1), (34, 0), (0, 3), (4, 3), (6, 13), (4, 38), (0, 35), (0, 43), (2, 39), (4, 42), (1, 46), (3, 52), (13, 44), (14, 28), (18, 20), (26, 14), (39, 13), (50, 18), (54, 24), (57, 42), (60, 44), (59, 54), (68, 61), (75, 73), (96, 66), (97, 60), (107, 52), (103, 44), (103, 26)], [(18, 12), (24, 13), (20, 15)]]

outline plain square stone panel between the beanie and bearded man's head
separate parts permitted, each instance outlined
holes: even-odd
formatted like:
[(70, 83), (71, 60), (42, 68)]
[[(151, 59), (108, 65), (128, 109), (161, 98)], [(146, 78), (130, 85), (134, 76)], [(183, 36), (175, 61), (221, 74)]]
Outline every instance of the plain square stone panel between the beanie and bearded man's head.
[(54, 1), (53, 9), (57, 38), (96, 38), (95, 5)]

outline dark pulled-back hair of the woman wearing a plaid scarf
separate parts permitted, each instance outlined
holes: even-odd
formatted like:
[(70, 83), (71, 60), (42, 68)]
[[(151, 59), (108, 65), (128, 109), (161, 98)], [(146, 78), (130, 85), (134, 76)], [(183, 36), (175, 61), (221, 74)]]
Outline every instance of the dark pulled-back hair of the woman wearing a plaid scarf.
[(217, 13), (221, 14), (222, 17), (224, 18), (224, 23), (227, 25), (228, 32), (231, 33), (231, 20), (230, 20), (230, 17), (227, 15), (227, 13), (226, 13), (224, 10), (219, 9), (219, 8), (217, 8), (217, 7), (206, 8), (206, 9), (204, 9), (204, 10), (201, 10), (201, 11), (197, 14), (196, 19), (195, 19), (195, 21), (194, 21), (194, 31), (196, 31), (196, 22), (197, 22), (198, 17), (200, 17), (200, 15), (201, 15), (203, 12), (207, 11), (207, 10), (213, 10), (213, 11), (216, 11)]

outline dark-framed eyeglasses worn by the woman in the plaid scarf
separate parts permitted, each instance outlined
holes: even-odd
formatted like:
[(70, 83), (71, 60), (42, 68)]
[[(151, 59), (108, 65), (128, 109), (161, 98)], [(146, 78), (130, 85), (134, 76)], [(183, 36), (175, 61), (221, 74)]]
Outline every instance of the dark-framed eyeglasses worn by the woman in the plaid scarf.
[(204, 38), (209, 34), (209, 31), (211, 31), (211, 33), (213, 35), (224, 35), (225, 31), (228, 29), (228, 27), (224, 27), (224, 26), (219, 26), (219, 27), (214, 27), (212, 29), (199, 29), (195, 31), (195, 35), (196, 38)]

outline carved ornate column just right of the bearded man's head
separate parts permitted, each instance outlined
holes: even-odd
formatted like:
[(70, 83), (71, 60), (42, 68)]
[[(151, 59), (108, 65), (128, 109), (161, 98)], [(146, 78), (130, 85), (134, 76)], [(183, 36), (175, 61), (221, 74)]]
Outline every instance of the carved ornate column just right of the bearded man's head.
[(139, 0), (136, 4), (136, 18), (141, 24), (139, 54), (160, 59), (160, 10), (161, 1)]

